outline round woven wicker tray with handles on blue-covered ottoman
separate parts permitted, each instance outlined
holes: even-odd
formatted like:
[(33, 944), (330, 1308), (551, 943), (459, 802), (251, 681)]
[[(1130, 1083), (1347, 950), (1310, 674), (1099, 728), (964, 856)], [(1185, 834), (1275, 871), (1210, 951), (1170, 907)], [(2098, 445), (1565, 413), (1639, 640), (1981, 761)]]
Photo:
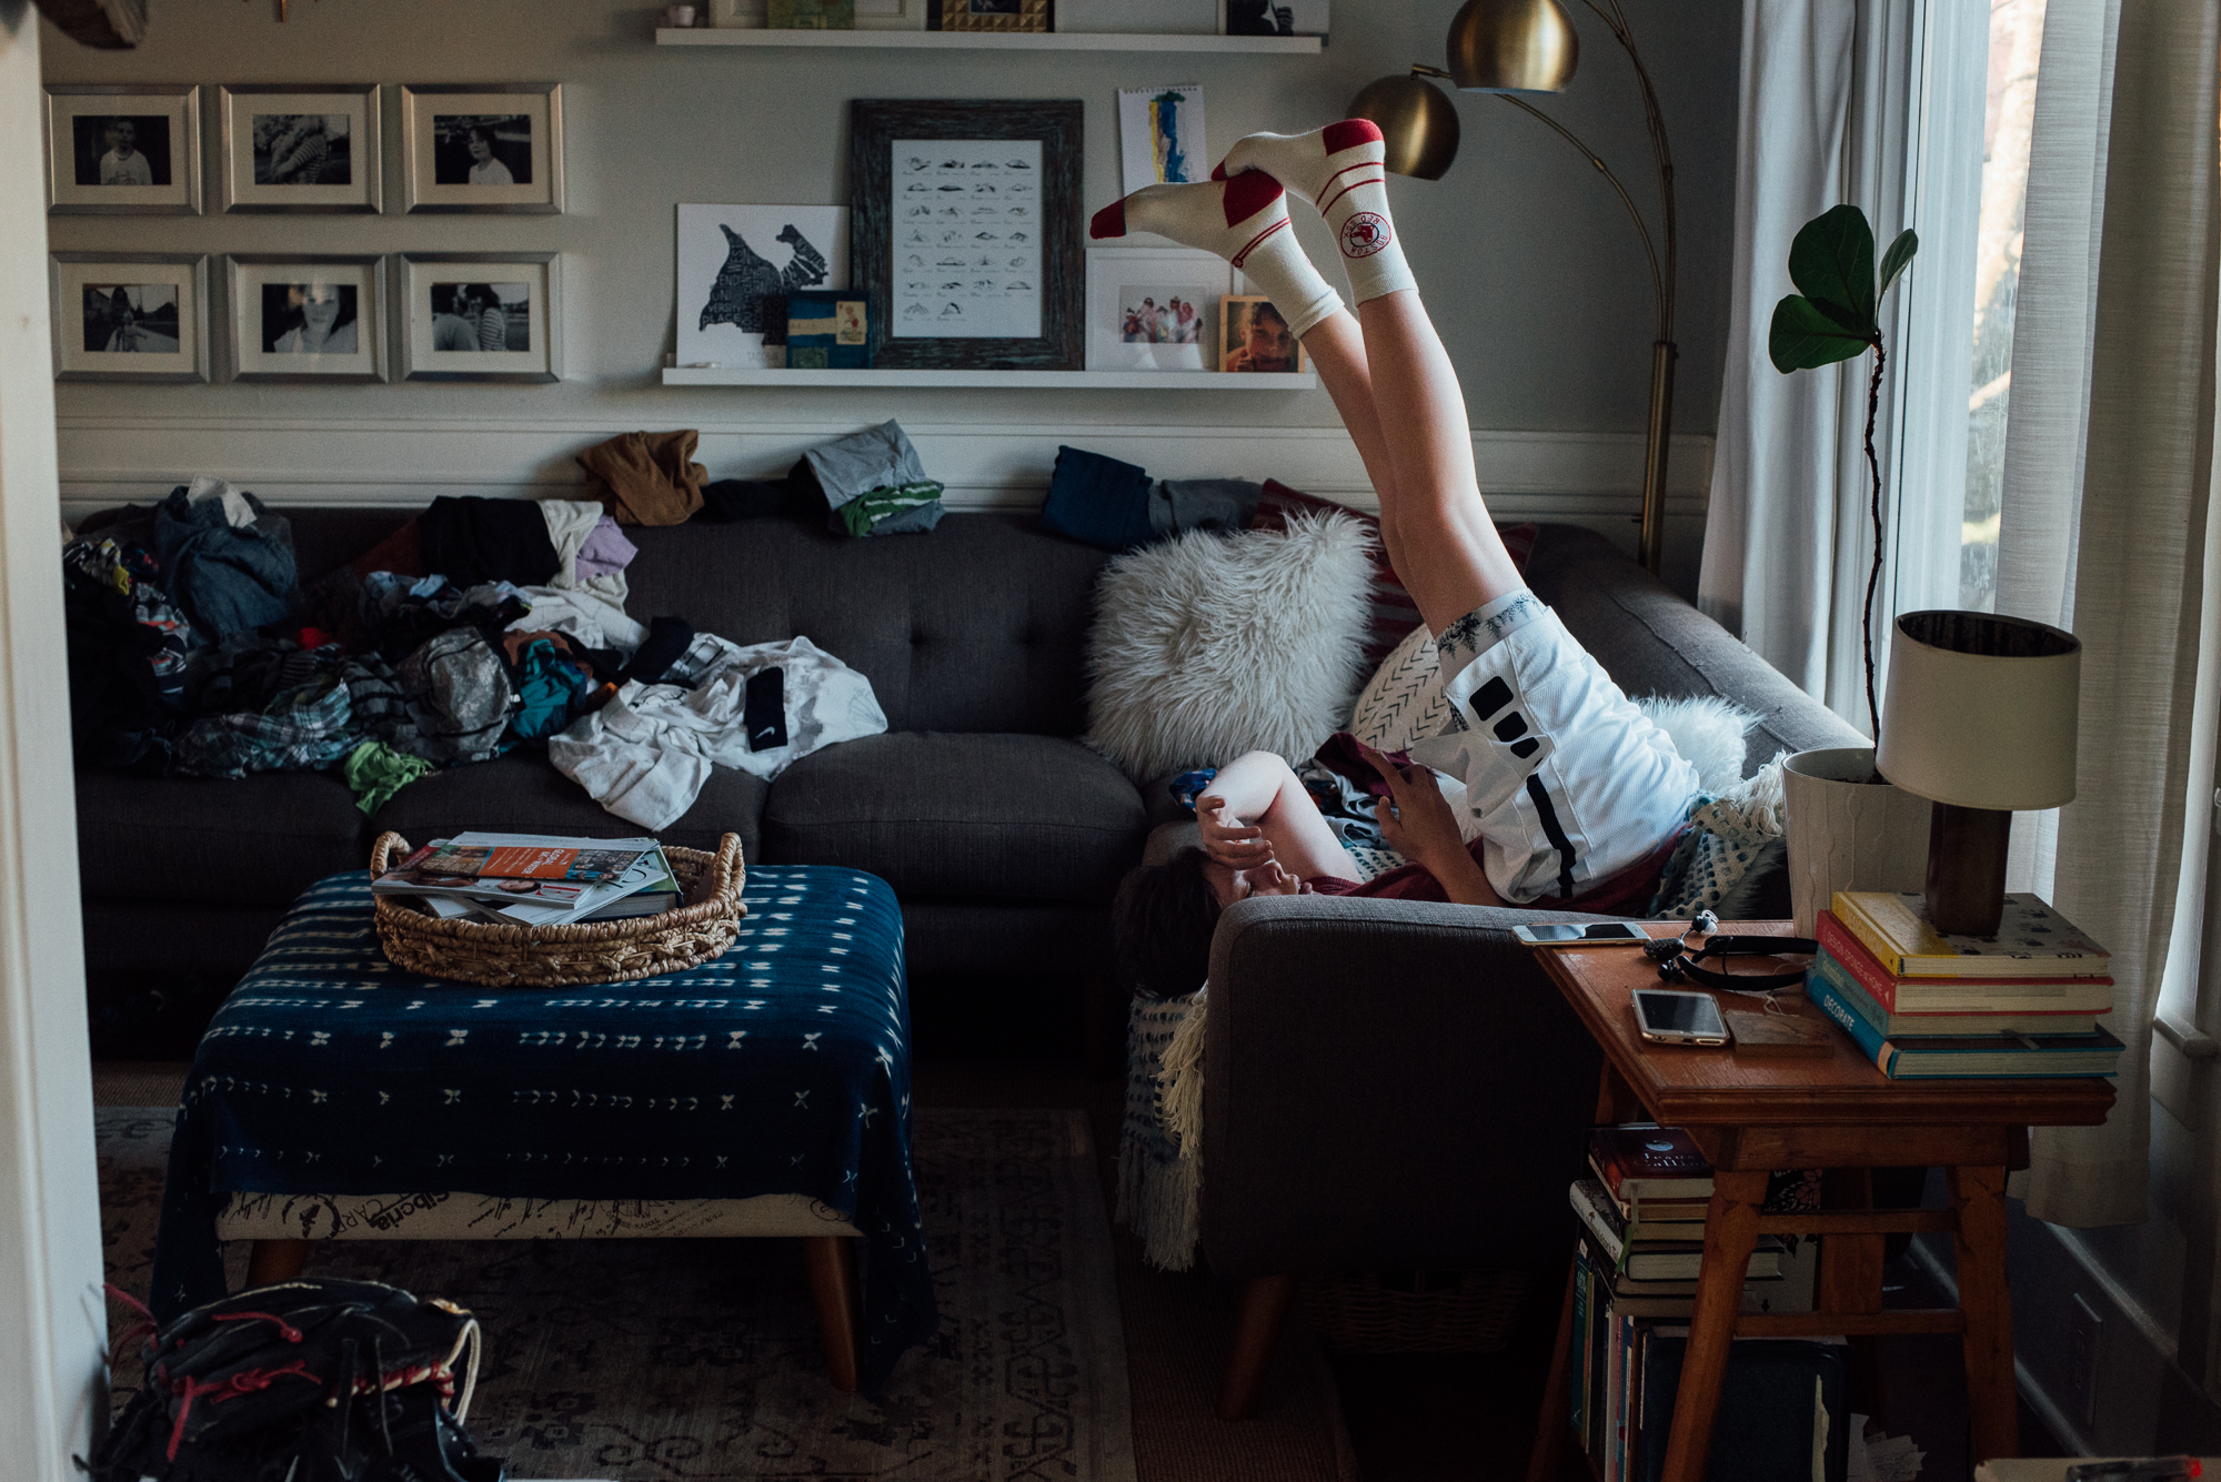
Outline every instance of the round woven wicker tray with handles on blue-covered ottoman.
[[(371, 845), (371, 876), (409, 859), (409, 841), (384, 832)], [(378, 941), (386, 961), (409, 972), (486, 987), (564, 987), (571, 983), (629, 983), (686, 972), (724, 956), (740, 936), (740, 834), (726, 834), (715, 854), (664, 850), (671, 874), (686, 890), (686, 905), (660, 916), (582, 921), (522, 927), (491, 921), (442, 921), (431, 912), (378, 896)]]

